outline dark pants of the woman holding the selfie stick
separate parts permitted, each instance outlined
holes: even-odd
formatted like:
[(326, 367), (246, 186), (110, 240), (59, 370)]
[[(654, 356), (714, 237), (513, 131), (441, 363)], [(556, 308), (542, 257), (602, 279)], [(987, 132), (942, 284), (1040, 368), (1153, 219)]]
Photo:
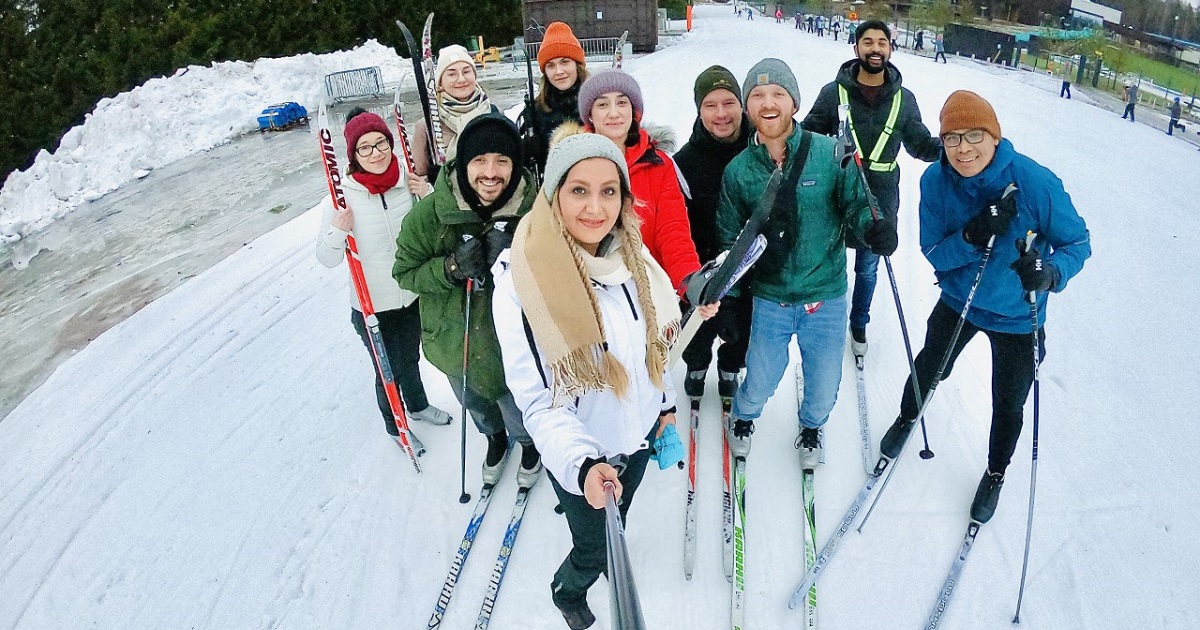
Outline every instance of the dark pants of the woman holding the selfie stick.
[[(653, 436), (652, 436), (653, 437)], [(637, 486), (642, 484), (646, 466), (650, 461), (650, 450), (642, 449), (625, 458), (625, 469), (620, 473), (620, 521), (625, 522), (629, 506), (634, 503)], [(548, 470), (547, 470), (548, 473)], [(571, 552), (554, 571), (554, 581), (550, 584), (551, 598), (556, 604), (576, 601), (587, 595), (600, 574), (608, 570), (608, 545), (605, 540), (605, 514), (588, 504), (580, 494), (565, 490), (550, 474), (550, 484), (558, 496), (558, 504), (566, 516), (571, 528)]]

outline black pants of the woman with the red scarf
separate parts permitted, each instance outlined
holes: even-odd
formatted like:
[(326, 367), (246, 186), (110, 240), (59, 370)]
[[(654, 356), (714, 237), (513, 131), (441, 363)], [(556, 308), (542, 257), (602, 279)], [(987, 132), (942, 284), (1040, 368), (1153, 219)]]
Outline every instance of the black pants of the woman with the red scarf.
[[(421, 346), (421, 312), (418, 301), (403, 307), (376, 313), (379, 319), (379, 334), (383, 336), (383, 347), (388, 352), (388, 364), (391, 366), (392, 377), (400, 388), (404, 409), (415, 413), (430, 406), (430, 400), (425, 397), (425, 385), (421, 383), (420, 346)], [(376, 373), (376, 401), (379, 403), (379, 413), (383, 414), (383, 424), (389, 436), (398, 436), (396, 422), (391, 415), (391, 404), (388, 403), (388, 392), (383, 389), (383, 379), (379, 378), (379, 368), (376, 365), (374, 349), (371, 336), (367, 332), (366, 322), (358, 308), (350, 308), (350, 323), (362, 340), (371, 354), (371, 366)]]

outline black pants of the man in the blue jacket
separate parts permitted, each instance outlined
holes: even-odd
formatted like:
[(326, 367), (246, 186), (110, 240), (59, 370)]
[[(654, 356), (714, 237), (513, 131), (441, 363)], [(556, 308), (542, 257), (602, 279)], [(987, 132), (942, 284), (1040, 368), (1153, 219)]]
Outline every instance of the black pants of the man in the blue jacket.
[[(917, 354), (917, 382), (920, 383), (922, 398), (929, 395), (929, 384), (937, 373), (937, 367), (946, 356), (950, 344), (954, 326), (959, 323), (959, 313), (946, 302), (938, 300), (929, 316), (929, 328), (925, 330), (925, 347)], [(1033, 384), (1033, 348), (1030, 332), (997, 332), (976, 326), (971, 322), (962, 325), (962, 332), (950, 353), (942, 380), (950, 376), (954, 361), (976, 332), (983, 332), (991, 342), (991, 440), (988, 449), (988, 469), (1003, 473), (1013, 460), (1016, 439), (1021, 437), (1025, 400)], [(1045, 356), (1045, 329), (1038, 329), (1038, 349)], [(912, 394), (912, 380), (905, 383), (904, 400), (900, 403), (900, 416), (914, 419), (918, 413), (917, 400)]]

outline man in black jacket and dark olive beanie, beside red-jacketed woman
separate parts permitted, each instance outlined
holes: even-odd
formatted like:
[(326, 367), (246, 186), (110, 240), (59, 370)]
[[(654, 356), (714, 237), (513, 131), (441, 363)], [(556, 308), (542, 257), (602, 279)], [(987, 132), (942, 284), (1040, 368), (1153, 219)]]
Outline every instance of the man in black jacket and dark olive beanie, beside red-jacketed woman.
[[(685, 192), (691, 239), (701, 260), (712, 260), (720, 253), (716, 244), (716, 203), (721, 193), (725, 167), (743, 149), (752, 133), (742, 108), (742, 91), (733, 73), (712, 66), (696, 77), (694, 89), (700, 115), (691, 128), (688, 144), (674, 155), (676, 164), (688, 182)], [(749, 300), (725, 298), (716, 317), (701, 324), (696, 336), (683, 353), (688, 365), (684, 391), (700, 397), (704, 392), (704, 374), (713, 360), (713, 342), (718, 336), (725, 343), (716, 353), (718, 391), (730, 398), (738, 389), (738, 372), (745, 366), (746, 344), (750, 341)]]

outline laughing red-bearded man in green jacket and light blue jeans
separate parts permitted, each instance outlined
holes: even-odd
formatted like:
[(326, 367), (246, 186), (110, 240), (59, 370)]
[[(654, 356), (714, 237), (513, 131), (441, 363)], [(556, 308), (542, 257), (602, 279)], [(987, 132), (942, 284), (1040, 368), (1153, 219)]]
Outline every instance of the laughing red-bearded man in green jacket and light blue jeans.
[(834, 157), (836, 142), (802, 130), (792, 119), (800, 96), (786, 64), (763, 59), (750, 68), (742, 92), (757, 131), (722, 176), (716, 209), (722, 248), (737, 240), (775, 168), (782, 168), (784, 178), (762, 230), (767, 251), (750, 283), (754, 314), (746, 378), (733, 397), (730, 450), (739, 458), (749, 455), (754, 421), (787, 368), (787, 347), (794, 336), (804, 368), (800, 466), (811, 469), (821, 458), (820, 428), (829, 419), (841, 383), (846, 235), (888, 256), (896, 247), (895, 223), (871, 218), (858, 174), (842, 169)]

